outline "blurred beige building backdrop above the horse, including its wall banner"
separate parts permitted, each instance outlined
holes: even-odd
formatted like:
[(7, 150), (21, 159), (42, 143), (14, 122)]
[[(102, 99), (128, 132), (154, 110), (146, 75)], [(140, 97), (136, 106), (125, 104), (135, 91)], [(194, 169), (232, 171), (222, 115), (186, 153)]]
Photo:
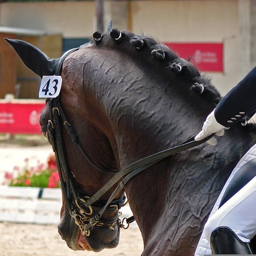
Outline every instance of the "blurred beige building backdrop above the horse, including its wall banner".
[(255, 66), (255, 0), (4, 1), (0, 3), (0, 98), (37, 98), (39, 79), (4, 37), (31, 42), (50, 58), (113, 27), (151, 35), (194, 56), (225, 95)]

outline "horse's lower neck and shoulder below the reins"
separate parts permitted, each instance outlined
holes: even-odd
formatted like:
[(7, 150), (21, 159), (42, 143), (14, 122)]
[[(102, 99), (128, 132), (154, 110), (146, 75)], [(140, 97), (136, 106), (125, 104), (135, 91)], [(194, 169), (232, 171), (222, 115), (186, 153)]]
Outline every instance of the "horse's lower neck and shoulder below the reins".
[[(176, 251), (168, 255), (193, 255), (194, 248), (184, 250), (181, 241), (199, 239), (196, 235), (201, 233), (226, 179), (255, 141), (250, 131), (226, 131), (217, 146), (204, 144), (174, 155), (127, 183), (130, 206), (147, 246), (145, 255), (155, 255), (153, 248), (158, 245), (163, 251), (157, 255), (168, 250)], [(184, 233), (183, 225), (193, 229)], [(158, 237), (155, 228), (161, 230)], [(156, 242), (168, 239), (173, 240), (169, 245)]]

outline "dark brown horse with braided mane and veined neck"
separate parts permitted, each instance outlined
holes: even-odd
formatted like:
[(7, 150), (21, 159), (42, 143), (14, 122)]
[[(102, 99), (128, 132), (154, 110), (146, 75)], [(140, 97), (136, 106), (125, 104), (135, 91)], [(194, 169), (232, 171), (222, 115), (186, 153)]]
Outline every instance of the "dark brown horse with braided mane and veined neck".
[[(116, 247), (125, 192), (144, 240), (142, 255), (194, 255), (216, 198), (254, 144), (255, 131), (237, 125), (215, 147), (204, 143), (155, 163), (117, 190), (94, 219), (123, 177), (90, 207), (89, 197), (133, 162), (195, 136), (221, 96), (189, 62), (143, 35), (95, 33), (60, 60), (25, 42), (9, 42), (39, 76), (60, 73), (63, 80), (60, 95), (46, 101), (40, 123), (55, 150), (62, 141), (58, 228), (67, 245), (96, 252)], [(56, 126), (60, 133), (53, 132)]]

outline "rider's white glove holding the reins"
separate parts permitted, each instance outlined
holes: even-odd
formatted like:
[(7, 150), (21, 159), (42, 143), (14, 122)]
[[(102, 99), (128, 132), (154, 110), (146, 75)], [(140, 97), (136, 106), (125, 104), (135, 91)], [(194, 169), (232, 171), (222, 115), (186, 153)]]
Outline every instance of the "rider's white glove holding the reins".
[[(207, 119), (205, 120), (202, 131), (197, 134), (197, 136), (195, 137), (195, 140), (202, 140), (210, 136), (212, 133), (215, 133), (216, 136), (223, 136), (224, 130), (229, 129), (217, 122), (214, 116), (214, 111), (212, 111), (210, 115), (207, 117)], [(215, 146), (217, 144), (217, 140), (213, 136), (209, 140), (207, 140), (207, 143), (212, 146)]]

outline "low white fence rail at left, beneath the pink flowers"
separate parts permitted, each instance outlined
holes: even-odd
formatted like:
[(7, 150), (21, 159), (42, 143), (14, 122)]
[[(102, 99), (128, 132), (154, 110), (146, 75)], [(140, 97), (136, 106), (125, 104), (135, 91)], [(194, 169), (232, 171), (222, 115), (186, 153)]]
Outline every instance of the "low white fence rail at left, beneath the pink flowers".
[(0, 186), (0, 222), (57, 224), (61, 190)]

